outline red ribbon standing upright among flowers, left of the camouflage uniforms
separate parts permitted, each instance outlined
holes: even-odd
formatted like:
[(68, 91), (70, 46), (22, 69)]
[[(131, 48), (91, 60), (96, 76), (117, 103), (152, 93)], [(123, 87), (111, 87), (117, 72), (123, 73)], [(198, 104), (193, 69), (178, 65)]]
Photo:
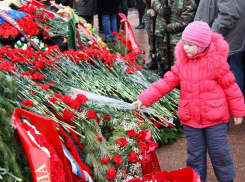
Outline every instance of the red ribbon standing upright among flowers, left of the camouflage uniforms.
[(125, 29), (125, 35), (127, 34), (129, 40), (131, 41), (132, 51), (139, 54), (139, 52), (140, 52), (139, 44), (136, 41), (136, 38), (134, 36), (134, 32), (132, 30), (130, 23), (128, 22), (127, 17), (123, 13), (118, 13), (118, 15), (120, 16), (120, 18), (122, 18), (122, 20), (120, 21), (121, 23), (124, 23), (124, 24), (127, 23), (128, 24), (128, 29)]

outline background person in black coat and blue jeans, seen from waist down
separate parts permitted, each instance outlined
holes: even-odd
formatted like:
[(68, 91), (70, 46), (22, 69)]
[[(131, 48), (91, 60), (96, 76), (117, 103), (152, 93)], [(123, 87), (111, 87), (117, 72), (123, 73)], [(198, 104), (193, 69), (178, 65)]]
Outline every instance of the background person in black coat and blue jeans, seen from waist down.
[(98, 0), (98, 13), (102, 16), (105, 42), (111, 40), (115, 42), (113, 32), (117, 32), (117, 14), (119, 11), (120, 0)]

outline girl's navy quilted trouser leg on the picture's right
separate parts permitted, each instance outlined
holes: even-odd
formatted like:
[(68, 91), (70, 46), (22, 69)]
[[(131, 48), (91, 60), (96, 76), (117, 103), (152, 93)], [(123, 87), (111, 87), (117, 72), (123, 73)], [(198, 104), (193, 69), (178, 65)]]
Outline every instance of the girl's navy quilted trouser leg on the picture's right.
[(236, 177), (227, 131), (227, 123), (205, 128), (208, 153), (216, 178), (220, 182), (230, 182)]

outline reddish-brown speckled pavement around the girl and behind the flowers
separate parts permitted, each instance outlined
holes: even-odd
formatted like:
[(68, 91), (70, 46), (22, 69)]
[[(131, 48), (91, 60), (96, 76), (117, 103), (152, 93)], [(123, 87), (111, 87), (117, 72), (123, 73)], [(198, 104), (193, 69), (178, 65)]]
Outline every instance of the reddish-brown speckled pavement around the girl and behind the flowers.
[[(134, 30), (134, 34), (141, 49), (146, 51), (145, 59), (148, 58), (148, 36), (144, 29), (135, 29), (138, 25), (138, 11), (130, 9), (129, 11), (129, 22)], [(95, 27), (98, 27), (97, 16), (95, 16)], [(98, 32), (97, 32), (98, 33)], [(99, 34), (99, 33), (98, 33)], [(99, 34), (104, 39), (104, 34)], [(103, 40), (102, 39), (102, 40)], [(228, 132), (228, 140), (230, 145), (231, 155), (234, 160), (237, 176), (234, 179), (235, 182), (245, 182), (245, 121), (239, 126), (235, 126), (233, 121), (230, 123)], [(186, 140), (177, 140), (173, 144), (165, 145), (164, 147), (156, 150), (158, 160), (163, 171), (177, 170), (185, 167), (186, 162)], [(207, 182), (217, 182), (213, 168), (208, 158), (208, 175)]]

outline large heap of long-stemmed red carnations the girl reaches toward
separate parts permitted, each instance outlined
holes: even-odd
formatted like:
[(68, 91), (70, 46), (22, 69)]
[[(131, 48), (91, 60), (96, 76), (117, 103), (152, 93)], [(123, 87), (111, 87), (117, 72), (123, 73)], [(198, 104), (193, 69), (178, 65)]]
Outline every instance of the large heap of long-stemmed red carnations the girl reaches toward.
[[(66, 20), (32, 2), (22, 5), (19, 11), (34, 19), (44, 39), (68, 36)], [(119, 54), (109, 45), (101, 46), (93, 34), (92, 38), (82, 31), (79, 34), (86, 40), (79, 50), (61, 52), (58, 46), (48, 45), (42, 51), (35, 51), (28, 44), (23, 47), (21, 42), (17, 44), (22, 49), (0, 48), (0, 70), (17, 84), (18, 99), (14, 104), (55, 121), (66, 148), (96, 181), (139, 177), (142, 155), (148, 150), (146, 130), (152, 130), (154, 141), (161, 141), (158, 127), (168, 126), (172, 112), (176, 113), (179, 93), (174, 90), (155, 103), (152, 113), (127, 108), (140, 92), (158, 80), (144, 65), (141, 54), (144, 51), (134, 53), (128, 41), (129, 52)], [(123, 48), (126, 40), (121, 34), (115, 35), (118, 46)], [(99, 96), (90, 99), (86, 94), (73, 95), (71, 87), (125, 105), (116, 108), (115, 104), (101, 101)], [(81, 180), (75, 175), (73, 178)]]

